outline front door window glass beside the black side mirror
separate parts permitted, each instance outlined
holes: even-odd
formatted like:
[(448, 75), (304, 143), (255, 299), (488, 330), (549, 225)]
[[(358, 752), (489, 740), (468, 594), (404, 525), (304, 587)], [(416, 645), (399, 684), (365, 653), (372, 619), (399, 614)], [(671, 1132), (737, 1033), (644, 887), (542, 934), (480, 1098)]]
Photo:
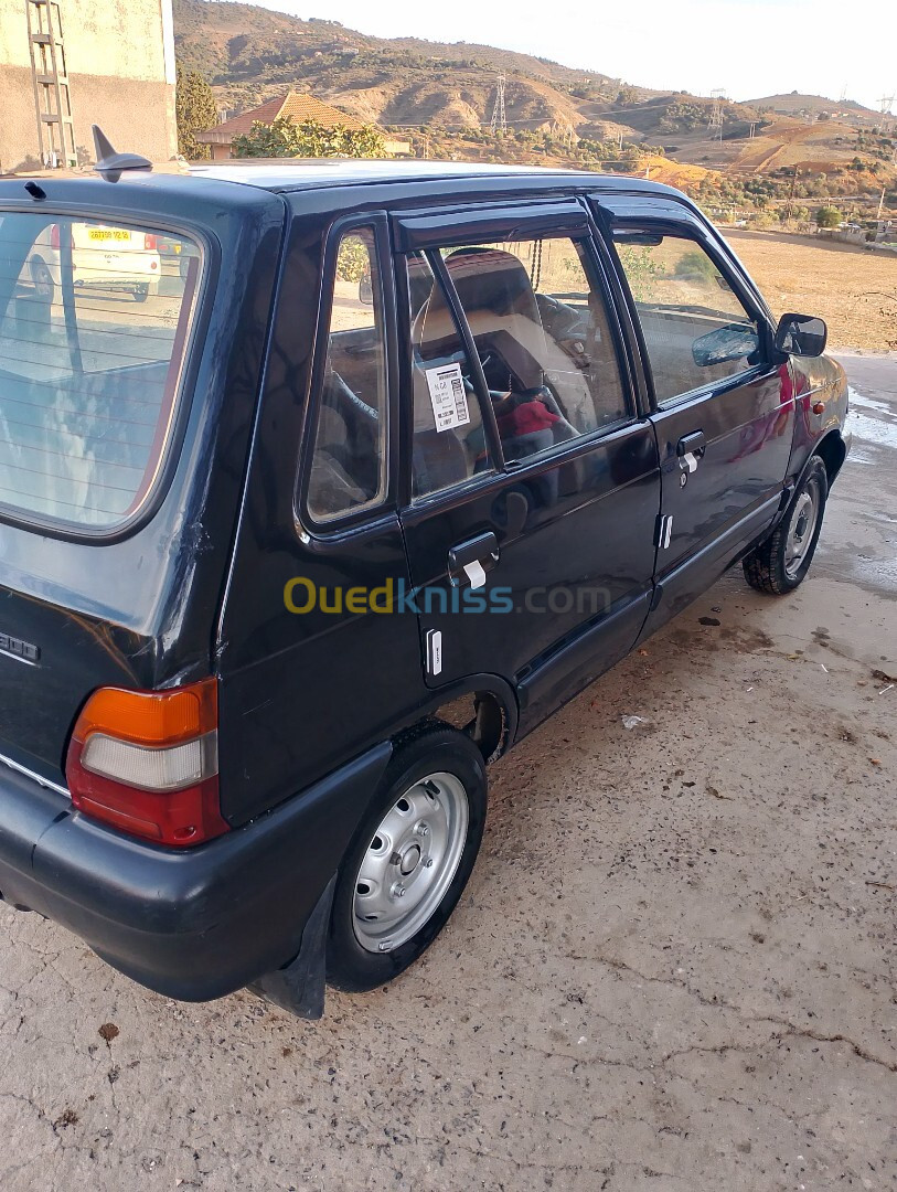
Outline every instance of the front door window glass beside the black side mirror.
[(618, 229), (659, 405), (762, 362), (756, 321), (690, 236)]

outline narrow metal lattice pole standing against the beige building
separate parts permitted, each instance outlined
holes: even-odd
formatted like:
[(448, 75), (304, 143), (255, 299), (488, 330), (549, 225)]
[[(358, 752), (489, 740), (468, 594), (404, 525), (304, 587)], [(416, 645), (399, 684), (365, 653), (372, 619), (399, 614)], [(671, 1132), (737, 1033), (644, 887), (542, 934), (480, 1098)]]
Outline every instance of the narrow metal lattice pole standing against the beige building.
[(58, 0), (25, 0), (41, 161), (55, 169), (76, 166), (75, 128)]

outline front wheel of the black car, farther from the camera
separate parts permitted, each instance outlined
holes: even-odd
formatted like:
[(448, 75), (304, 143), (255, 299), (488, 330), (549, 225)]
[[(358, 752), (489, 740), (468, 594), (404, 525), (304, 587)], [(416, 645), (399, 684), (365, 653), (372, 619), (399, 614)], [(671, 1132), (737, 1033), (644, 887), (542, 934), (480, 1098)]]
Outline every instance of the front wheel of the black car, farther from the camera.
[(826, 465), (814, 455), (785, 516), (742, 563), (745, 578), (752, 588), (771, 596), (784, 596), (803, 583), (820, 540), (827, 499)]

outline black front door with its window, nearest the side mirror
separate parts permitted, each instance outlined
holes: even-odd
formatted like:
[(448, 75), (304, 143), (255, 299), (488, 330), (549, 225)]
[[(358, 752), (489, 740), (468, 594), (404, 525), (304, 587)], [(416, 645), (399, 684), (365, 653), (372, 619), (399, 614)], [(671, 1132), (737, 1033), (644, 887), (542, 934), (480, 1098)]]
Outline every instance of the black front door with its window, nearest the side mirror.
[(772, 523), (795, 401), (766, 311), (697, 218), (655, 217), (646, 203), (613, 222), (612, 240), (654, 395), (661, 591), (652, 632)]

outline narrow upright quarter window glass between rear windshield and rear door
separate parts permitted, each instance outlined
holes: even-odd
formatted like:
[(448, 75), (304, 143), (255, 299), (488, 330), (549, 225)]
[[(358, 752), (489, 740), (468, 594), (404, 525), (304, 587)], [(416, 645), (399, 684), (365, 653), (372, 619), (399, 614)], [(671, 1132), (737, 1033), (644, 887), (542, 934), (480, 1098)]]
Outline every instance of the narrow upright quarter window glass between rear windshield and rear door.
[(328, 348), (309, 476), (309, 513), (326, 522), (386, 497), (384, 303), (374, 231), (353, 228), (336, 254)]

